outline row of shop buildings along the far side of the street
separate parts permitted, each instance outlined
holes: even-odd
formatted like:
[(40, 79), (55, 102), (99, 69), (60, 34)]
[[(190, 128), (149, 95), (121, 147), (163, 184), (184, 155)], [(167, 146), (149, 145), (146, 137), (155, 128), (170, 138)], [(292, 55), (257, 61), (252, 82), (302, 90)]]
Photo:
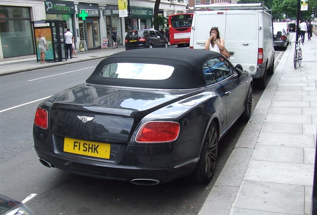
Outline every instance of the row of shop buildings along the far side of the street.
[[(185, 3), (169, 3), (160, 1), (160, 14), (185, 12)], [(1, 0), (0, 60), (36, 53), (32, 21), (62, 20), (65, 31), (73, 32), (76, 48), (85, 44), (86, 50), (93, 50), (102, 48), (105, 39), (111, 46), (112, 29), (125, 38), (129, 29), (151, 28), (154, 4), (155, 0), (130, 0), (129, 18), (119, 17), (118, 0)], [(43, 23), (35, 24), (40, 26)], [(118, 43), (124, 45), (123, 39)]]

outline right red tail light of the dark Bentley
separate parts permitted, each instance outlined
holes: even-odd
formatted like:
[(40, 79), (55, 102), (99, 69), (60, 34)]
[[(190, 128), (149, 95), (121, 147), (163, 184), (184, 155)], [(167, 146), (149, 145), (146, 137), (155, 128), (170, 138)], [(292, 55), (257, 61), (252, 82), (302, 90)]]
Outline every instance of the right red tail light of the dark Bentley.
[(171, 121), (150, 121), (143, 124), (137, 134), (137, 142), (158, 143), (177, 139), (180, 125)]

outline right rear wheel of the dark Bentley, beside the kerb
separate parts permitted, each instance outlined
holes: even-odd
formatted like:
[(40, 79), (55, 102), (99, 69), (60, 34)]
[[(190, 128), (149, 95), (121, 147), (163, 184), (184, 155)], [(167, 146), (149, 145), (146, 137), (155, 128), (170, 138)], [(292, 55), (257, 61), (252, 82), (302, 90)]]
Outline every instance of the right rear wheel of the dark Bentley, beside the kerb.
[(216, 123), (212, 121), (203, 143), (196, 169), (187, 177), (189, 181), (199, 184), (208, 184), (211, 181), (217, 162), (218, 139), (218, 129)]

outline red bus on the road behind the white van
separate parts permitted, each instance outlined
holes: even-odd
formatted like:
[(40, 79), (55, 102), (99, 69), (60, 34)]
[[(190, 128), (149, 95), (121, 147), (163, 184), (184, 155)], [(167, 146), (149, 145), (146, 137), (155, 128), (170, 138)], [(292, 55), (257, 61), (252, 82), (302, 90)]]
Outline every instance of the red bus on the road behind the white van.
[(193, 13), (179, 13), (168, 16), (170, 45), (189, 45)]

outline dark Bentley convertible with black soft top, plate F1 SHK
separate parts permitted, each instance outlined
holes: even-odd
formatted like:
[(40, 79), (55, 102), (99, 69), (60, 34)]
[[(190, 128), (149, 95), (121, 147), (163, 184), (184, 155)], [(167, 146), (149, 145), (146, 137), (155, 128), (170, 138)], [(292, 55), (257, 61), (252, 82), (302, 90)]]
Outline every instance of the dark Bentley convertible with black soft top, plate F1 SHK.
[(72, 173), (156, 185), (214, 175), (218, 143), (252, 110), (253, 80), (223, 55), (143, 49), (102, 60), (85, 83), (35, 113), (40, 162)]

